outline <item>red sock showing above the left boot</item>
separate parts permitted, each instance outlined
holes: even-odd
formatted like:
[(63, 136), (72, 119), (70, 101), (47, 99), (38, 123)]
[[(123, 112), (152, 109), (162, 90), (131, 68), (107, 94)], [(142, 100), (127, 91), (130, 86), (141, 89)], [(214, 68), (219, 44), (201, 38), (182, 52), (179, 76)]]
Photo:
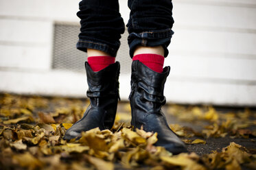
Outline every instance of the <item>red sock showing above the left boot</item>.
[(91, 66), (91, 69), (96, 71), (101, 71), (102, 69), (105, 69), (110, 64), (115, 63), (115, 58), (110, 56), (93, 56), (87, 58), (89, 66)]

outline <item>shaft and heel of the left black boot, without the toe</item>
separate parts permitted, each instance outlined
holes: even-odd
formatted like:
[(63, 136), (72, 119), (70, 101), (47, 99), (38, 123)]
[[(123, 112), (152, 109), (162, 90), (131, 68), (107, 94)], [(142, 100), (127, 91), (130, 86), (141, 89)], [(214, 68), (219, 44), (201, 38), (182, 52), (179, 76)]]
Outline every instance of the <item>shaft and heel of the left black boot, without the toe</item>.
[[(85, 63), (87, 83), (87, 97), (90, 98), (90, 107), (98, 111), (99, 119), (102, 119), (104, 128), (110, 129), (115, 121), (117, 102), (119, 98), (119, 73), (120, 64), (115, 62), (101, 71), (94, 72)], [(104, 111), (103, 111), (104, 110)]]

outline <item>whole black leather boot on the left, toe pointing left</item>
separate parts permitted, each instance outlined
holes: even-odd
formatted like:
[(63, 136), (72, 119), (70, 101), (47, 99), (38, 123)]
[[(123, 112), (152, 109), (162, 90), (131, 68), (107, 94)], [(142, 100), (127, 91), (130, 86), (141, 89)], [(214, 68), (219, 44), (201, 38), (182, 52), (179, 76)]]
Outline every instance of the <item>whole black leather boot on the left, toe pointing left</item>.
[(91, 104), (84, 112), (84, 117), (67, 130), (66, 140), (80, 138), (81, 132), (100, 127), (100, 130), (110, 129), (115, 121), (117, 101), (119, 99), (120, 64), (110, 64), (105, 69), (93, 72), (88, 62), (85, 62), (87, 75), (87, 97)]

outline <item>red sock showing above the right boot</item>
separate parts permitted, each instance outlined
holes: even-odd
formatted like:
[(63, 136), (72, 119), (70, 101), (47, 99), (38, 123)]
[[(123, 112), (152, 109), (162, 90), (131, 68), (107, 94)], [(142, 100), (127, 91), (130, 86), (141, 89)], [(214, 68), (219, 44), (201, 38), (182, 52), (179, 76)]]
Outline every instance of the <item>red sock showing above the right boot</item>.
[(163, 72), (163, 62), (165, 58), (161, 55), (154, 53), (142, 53), (133, 56), (132, 60), (139, 60), (140, 62), (148, 66), (150, 69), (158, 73)]

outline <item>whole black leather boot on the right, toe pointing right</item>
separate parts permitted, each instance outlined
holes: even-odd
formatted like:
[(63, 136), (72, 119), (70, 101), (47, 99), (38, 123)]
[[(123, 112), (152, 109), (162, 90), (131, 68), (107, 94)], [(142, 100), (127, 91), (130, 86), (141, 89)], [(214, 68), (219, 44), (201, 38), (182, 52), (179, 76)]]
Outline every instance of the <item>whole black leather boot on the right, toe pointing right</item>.
[(179, 154), (187, 151), (185, 144), (170, 129), (161, 110), (166, 101), (163, 88), (169, 73), (170, 66), (165, 67), (163, 73), (156, 73), (139, 60), (132, 62), (131, 124), (146, 132), (157, 132), (155, 145), (165, 147), (172, 154)]

